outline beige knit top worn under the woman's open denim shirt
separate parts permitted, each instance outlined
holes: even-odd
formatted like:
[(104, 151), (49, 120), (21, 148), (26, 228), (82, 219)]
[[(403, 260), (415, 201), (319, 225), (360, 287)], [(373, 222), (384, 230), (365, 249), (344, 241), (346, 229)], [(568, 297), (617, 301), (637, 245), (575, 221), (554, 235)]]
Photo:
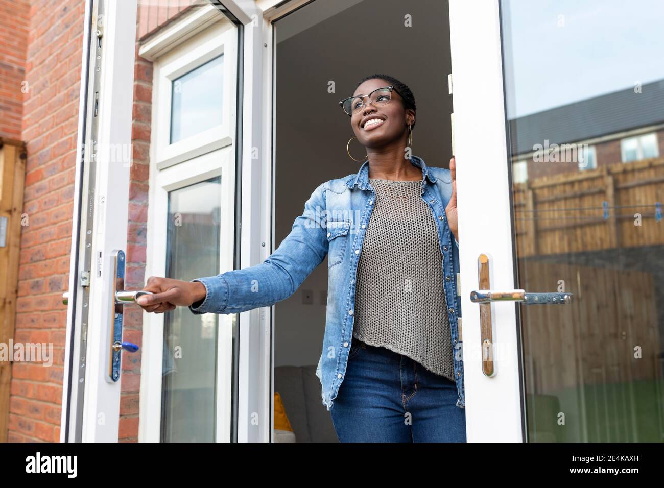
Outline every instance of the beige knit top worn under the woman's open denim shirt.
[(422, 181), (369, 183), (376, 201), (357, 264), (353, 336), (454, 381), (443, 255)]

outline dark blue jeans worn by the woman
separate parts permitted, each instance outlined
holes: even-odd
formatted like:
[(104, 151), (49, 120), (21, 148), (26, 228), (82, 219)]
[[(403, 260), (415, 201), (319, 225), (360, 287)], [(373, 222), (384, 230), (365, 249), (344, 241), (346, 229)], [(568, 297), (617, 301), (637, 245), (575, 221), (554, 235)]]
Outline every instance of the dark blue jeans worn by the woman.
[(330, 414), (340, 442), (465, 442), (456, 402), (453, 381), (353, 337)]

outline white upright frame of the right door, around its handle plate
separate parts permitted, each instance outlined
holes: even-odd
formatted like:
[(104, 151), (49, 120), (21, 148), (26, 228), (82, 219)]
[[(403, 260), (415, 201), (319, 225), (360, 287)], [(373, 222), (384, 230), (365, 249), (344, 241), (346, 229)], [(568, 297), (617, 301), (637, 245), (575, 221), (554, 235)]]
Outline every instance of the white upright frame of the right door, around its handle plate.
[(491, 305), (496, 373), (488, 377), (481, 367), (479, 305), (470, 301), (480, 254), (491, 260), (492, 289), (515, 289), (516, 283), (500, 25), (499, 0), (479, 9), (450, 0), (468, 442), (525, 441), (516, 305)]

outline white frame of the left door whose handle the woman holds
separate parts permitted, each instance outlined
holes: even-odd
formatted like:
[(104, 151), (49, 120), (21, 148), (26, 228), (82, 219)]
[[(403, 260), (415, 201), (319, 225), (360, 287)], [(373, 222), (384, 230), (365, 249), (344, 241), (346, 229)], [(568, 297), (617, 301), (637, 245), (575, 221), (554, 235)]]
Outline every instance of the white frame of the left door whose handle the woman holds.
[[(96, 22), (97, 19), (102, 22)], [(125, 250), (127, 244), (131, 161), (118, 160), (117, 155), (123, 155), (131, 147), (135, 19), (136, 0), (86, 0), (77, 141), (78, 154), (84, 156), (84, 161), (77, 158), (74, 184), (74, 208), (76, 211), (80, 208), (81, 213), (80, 220), (76, 213), (72, 218), (60, 423), (62, 442), (118, 440), (120, 381), (106, 380), (113, 313), (108, 297), (114, 274), (112, 252)], [(99, 38), (90, 35), (90, 27), (100, 31), (100, 52), (97, 49)], [(96, 68), (99, 68), (98, 84), (94, 82)], [(86, 84), (88, 76), (89, 84)], [(93, 86), (96, 88), (88, 89)], [(88, 188), (92, 157), (97, 161), (96, 177), (90, 180), (94, 191)], [(92, 226), (87, 220), (90, 212), (94, 212)], [(86, 258), (88, 249), (91, 259)], [(89, 286), (82, 285), (82, 272), (90, 273)], [(81, 351), (80, 344), (86, 335), (86, 351)], [(84, 388), (82, 398), (80, 387)]]

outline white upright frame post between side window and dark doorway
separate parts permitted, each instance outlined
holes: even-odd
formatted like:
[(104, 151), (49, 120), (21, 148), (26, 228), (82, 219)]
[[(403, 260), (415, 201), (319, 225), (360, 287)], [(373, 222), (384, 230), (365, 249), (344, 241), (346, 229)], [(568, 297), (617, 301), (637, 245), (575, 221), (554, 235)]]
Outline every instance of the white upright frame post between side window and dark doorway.
[[(264, 44), (269, 39), (262, 10), (254, 0), (222, 1), (242, 23), (242, 167), (240, 183), (241, 220), (240, 268), (260, 264), (270, 255), (272, 163), (266, 112), (272, 112), (266, 98)], [(267, 210), (266, 210), (267, 209)], [(238, 321), (238, 442), (267, 442), (272, 426), (270, 359), (272, 357), (269, 307), (242, 312)]]

